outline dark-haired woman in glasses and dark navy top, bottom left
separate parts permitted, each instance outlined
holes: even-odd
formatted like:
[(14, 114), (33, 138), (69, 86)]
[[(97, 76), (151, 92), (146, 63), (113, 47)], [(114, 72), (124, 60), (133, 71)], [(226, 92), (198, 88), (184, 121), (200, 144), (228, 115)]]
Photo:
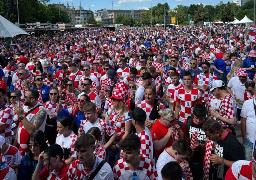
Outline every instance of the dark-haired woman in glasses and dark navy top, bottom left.
[[(22, 157), (20, 166), (21, 179), (31, 179), (38, 163), (38, 157), (42, 151), (47, 147), (44, 138), (44, 132), (36, 130), (32, 132), (27, 140), (27, 146), (29, 147), (28, 153)], [(39, 172), (44, 168), (41, 164)]]

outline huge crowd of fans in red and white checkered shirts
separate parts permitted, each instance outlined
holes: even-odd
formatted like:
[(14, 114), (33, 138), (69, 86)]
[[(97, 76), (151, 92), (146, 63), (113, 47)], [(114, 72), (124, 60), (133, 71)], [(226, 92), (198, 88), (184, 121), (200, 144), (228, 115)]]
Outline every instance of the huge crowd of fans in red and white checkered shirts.
[(0, 39), (0, 180), (254, 180), (255, 58), (244, 25)]

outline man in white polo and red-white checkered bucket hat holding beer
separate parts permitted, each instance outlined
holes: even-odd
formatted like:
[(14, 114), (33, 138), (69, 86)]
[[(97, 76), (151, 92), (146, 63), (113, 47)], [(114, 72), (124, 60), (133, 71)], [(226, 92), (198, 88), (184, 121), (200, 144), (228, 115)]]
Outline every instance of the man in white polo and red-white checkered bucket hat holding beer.
[[(227, 92), (231, 95), (233, 95), (236, 98), (236, 104), (237, 104), (237, 120), (240, 121), (241, 116), (241, 110), (242, 106), (244, 104), (244, 92), (245, 92), (245, 83), (247, 81), (252, 81), (248, 78), (248, 73), (246, 71), (246, 68), (238, 68), (237, 69), (237, 76), (232, 77), (227, 84)], [(233, 91), (231, 91), (231, 88), (233, 87)]]

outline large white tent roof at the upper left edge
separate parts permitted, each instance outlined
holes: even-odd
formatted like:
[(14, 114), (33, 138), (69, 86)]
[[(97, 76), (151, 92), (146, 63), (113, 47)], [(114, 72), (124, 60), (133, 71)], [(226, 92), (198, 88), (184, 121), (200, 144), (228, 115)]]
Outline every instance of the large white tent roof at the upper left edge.
[(29, 35), (29, 33), (0, 15), (0, 37), (14, 37), (19, 34)]

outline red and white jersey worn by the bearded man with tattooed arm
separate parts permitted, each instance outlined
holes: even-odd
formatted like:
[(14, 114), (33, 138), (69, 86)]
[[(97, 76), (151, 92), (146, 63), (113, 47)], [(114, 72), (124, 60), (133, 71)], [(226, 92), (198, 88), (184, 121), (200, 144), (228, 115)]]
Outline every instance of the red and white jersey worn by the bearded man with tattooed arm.
[[(36, 106), (39, 105), (39, 102), (37, 101), (36, 105), (30, 109), (33, 109), (35, 108)], [(37, 107), (36, 109), (34, 109), (32, 112), (30, 112), (29, 115), (26, 116), (26, 119), (31, 123), (33, 124), (34, 123), (34, 120), (35, 120), (35, 116), (36, 116), (36, 113), (41, 110), (41, 109), (44, 109), (46, 112), (47, 112), (47, 109), (43, 106), (39, 106)], [(24, 106), (23, 107), (23, 110), (24, 110), (24, 114), (26, 115), (26, 113), (29, 111), (29, 107), (28, 106)], [(45, 129), (45, 123), (46, 123), (46, 119), (47, 119), (47, 116), (45, 116), (44, 119), (42, 119), (43, 123), (42, 125), (38, 128), (39, 130), (42, 130), (44, 131)], [(20, 123), (20, 128), (18, 129), (18, 144), (20, 146), (20, 148), (27, 148), (27, 140), (29, 139), (29, 132), (26, 131), (25, 127), (23, 126), (23, 123), (21, 121)]]

